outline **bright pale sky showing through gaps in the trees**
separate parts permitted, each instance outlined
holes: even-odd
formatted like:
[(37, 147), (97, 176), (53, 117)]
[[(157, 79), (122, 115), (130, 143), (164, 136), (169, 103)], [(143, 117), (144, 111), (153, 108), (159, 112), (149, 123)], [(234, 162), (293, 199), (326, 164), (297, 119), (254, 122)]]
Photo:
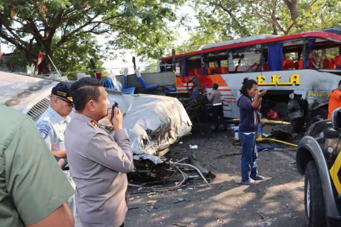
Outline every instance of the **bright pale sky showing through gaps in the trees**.
[[(184, 5), (182, 6), (178, 11), (176, 11), (176, 14), (178, 15), (184, 15), (187, 14), (190, 18), (190, 23), (192, 27), (194, 26), (198, 26), (199, 23), (198, 21), (195, 19), (194, 17), (194, 11), (192, 9), (192, 7), (190, 7), (189, 5)], [(174, 26), (175, 24), (170, 24), (170, 26)], [(186, 41), (189, 37), (189, 32), (186, 30), (185, 27), (180, 27), (177, 30), (178, 32), (178, 39), (176, 42), (176, 45), (181, 44), (182, 42)], [(97, 41), (99, 44), (104, 44), (103, 42), (105, 41), (105, 38), (103, 38), (103, 35), (97, 35)], [(1, 51), (3, 53), (10, 53), (12, 52), (11, 48), (5, 44), (1, 44)], [(119, 52), (119, 50), (117, 51), (117, 53)], [(118, 55), (119, 56), (119, 55)], [(134, 54), (133, 51), (131, 50), (126, 50), (126, 54), (124, 55), (124, 57), (117, 57), (114, 60), (110, 60), (110, 61), (105, 61), (103, 66), (105, 69), (113, 69), (113, 68), (128, 68), (128, 74), (133, 74), (133, 56), (135, 56), (135, 62), (136, 62), (136, 66), (140, 67), (140, 70), (144, 70), (144, 66), (147, 66), (146, 63), (144, 62), (140, 62), (138, 57), (136, 57), (136, 54)], [(57, 59), (52, 59), (54, 62), (57, 61)], [(112, 71), (114, 72), (115, 75), (119, 75), (119, 69), (114, 69), (114, 70), (108, 70), (109, 72)]]

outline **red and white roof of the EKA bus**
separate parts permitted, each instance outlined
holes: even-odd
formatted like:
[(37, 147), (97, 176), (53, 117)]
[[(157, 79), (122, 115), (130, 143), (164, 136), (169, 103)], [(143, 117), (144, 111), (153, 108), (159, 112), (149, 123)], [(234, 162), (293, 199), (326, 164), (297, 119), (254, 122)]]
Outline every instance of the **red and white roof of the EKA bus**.
[[(316, 37), (316, 38), (323, 38), (323, 39), (328, 39), (336, 42), (341, 42), (341, 26), (335, 27), (335, 28), (330, 28), (330, 29), (324, 29), (321, 31), (314, 31), (314, 32), (304, 32), (304, 33), (298, 33), (298, 34), (293, 34), (293, 35), (284, 35), (284, 36), (275, 36), (275, 37), (269, 37), (269, 35), (256, 35), (255, 39), (252, 39), (254, 36), (249, 36), (241, 39), (235, 39), (235, 40), (229, 40), (226, 42), (220, 43), (215, 43), (215, 44), (209, 44), (202, 48), (202, 50), (199, 51), (193, 51), (193, 52), (188, 52), (188, 53), (181, 53), (181, 54), (176, 54), (175, 57), (185, 57), (185, 56), (191, 56), (191, 55), (197, 55), (201, 53), (208, 53), (208, 52), (215, 52), (215, 51), (222, 51), (222, 50), (227, 50), (227, 49), (232, 49), (232, 48), (239, 48), (239, 47), (245, 47), (245, 46), (252, 46), (252, 45), (257, 45), (257, 44), (264, 44), (264, 43), (273, 43), (273, 42), (281, 42), (284, 40), (289, 40), (289, 39), (295, 39), (295, 38), (309, 38), (309, 37)], [(263, 37), (263, 38), (259, 38)], [(249, 40), (247, 40), (249, 38)], [(241, 40), (241, 42), (237, 42), (237, 40)], [(209, 47), (211, 46), (211, 47)], [(168, 57), (163, 57), (160, 58), (161, 61), (164, 60), (170, 60), (172, 56)]]

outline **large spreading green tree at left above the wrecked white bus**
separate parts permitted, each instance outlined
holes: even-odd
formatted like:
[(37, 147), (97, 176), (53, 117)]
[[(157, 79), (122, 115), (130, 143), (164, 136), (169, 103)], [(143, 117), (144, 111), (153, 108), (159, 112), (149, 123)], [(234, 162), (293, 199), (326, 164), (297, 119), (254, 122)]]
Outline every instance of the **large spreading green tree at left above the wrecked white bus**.
[[(100, 59), (113, 58), (118, 49), (134, 50), (142, 59), (157, 58), (174, 39), (167, 25), (179, 19), (174, 12), (183, 2), (0, 0), (0, 36), (16, 49), (14, 60), (35, 63), (41, 50), (61, 71), (89, 69), (90, 58), (100, 68)], [(105, 45), (97, 43), (95, 35), (102, 35)], [(39, 71), (51, 71), (47, 57)]]

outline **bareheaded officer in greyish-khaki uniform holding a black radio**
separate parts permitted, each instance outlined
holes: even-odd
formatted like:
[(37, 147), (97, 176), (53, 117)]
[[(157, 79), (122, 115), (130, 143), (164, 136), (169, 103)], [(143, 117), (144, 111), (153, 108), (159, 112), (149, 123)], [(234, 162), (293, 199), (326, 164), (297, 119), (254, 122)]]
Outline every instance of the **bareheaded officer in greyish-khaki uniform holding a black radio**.
[(108, 93), (101, 81), (84, 77), (72, 84), (76, 113), (65, 131), (70, 173), (82, 227), (123, 227), (127, 212), (127, 173), (133, 152), (122, 113), (115, 107), (114, 138), (98, 121), (108, 115)]

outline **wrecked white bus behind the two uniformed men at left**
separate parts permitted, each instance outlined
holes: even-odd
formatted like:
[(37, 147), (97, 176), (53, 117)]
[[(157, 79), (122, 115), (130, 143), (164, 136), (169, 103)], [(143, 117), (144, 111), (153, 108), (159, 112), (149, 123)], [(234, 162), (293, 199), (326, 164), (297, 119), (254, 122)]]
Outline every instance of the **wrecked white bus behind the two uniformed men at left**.
[[(17, 109), (36, 121), (51, 104), (51, 89), (58, 82), (48, 77), (0, 71), (0, 105)], [(136, 160), (162, 163), (160, 157), (169, 151), (170, 145), (191, 131), (189, 116), (175, 98), (107, 91), (110, 103), (117, 102), (124, 112), (123, 127), (128, 131)], [(107, 129), (114, 134), (110, 125)]]

